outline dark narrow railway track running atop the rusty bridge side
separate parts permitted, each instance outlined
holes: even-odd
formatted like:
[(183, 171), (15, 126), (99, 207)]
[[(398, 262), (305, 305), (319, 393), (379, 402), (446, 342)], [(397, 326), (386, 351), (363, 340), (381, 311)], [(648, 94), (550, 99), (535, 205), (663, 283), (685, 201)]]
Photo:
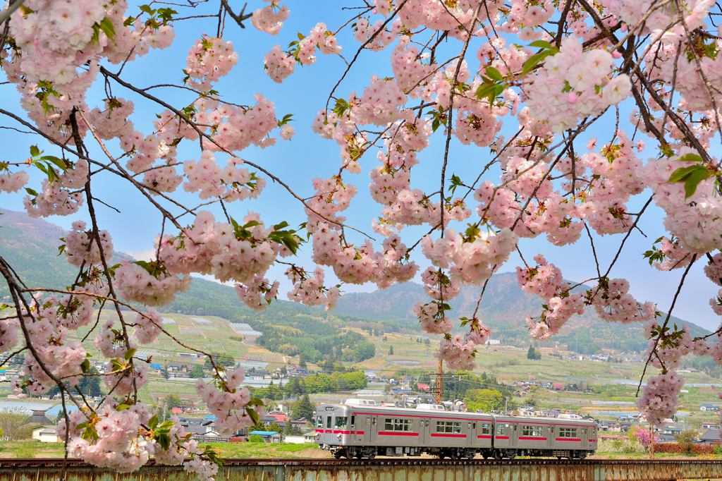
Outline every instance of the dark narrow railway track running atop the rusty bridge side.
[[(9, 468), (60, 468), (63, 466), (63, 458), (17, 458), (17, 459), (0, 459), (0, 469)], [(295, 467), (404, 467), (404, 466), (565, 466), (576, 465), (584, 466), (588, 464), (602, 464), (604, 466), (622, 466), (630, 464), (719, 464), (722, 460), (707, 459), (585, 459), (585, 460), (569, 460), (569, 459), (393, 459), (393, 458), (377, 458), (377, 459), (304, 459), (304, 458), (287, 458), (287, 459), (249, 459), (249, 458), (229, 458), (225, 459), (225, 468), (227, 467), (274, 467), (274, 466), (295, 466)], [(155, 464), (151, 461), (146, 467), (160, 467), (162, 465)], [(68, 459), (67, 467), (69, 468), (93, 468), (82, 459)], [(95, 468), (103, 470), (101, 468)]]

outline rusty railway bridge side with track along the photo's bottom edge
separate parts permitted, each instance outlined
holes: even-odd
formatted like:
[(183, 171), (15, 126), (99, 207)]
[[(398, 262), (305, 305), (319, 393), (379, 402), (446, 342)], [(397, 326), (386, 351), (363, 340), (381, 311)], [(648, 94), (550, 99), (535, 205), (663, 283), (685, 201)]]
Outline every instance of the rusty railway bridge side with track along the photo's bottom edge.
[[(62, 458), (0, 459), (0, 481), (55, 481)], [(149, 462), (118, 474), (68, 459), (66, 481), (189, 480), (183, 467)], [(226, 459), (221, 481), (670, 481), (722, 479), (706, 459)]]

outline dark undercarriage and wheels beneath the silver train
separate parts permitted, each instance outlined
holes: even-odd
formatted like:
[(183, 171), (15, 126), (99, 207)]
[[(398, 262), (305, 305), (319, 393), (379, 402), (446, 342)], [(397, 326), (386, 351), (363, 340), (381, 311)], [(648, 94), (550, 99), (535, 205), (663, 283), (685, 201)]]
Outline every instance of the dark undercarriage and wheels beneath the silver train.
[(321, 446), (331, 451), (336, 459), (374, 459), (376, 456), (421, 456), (422, 453), (438, 459), (473, 459), (477, 454), (484, 459), (516, 459), (518, 457), (547, 457), (557, 459), (585, 459), (594, 451), (559, 449), (468, 449), (468, 448), (418, 448), (404, 446)]

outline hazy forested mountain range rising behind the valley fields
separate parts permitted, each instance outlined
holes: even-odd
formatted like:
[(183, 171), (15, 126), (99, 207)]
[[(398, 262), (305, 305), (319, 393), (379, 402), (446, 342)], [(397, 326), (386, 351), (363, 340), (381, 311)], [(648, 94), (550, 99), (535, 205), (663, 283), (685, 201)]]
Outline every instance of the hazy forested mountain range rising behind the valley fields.
[[(0, 213), (0, 256), (9, 261), (28, 286), (65, 287), (74, 280), (77, 275), (74, 267), (65, 262), (64, 256), (57, 255), (57, 247), (61, 244), (59, 238), (65, 235), (62, 228), (45, 220), (31, 219), (25, 212), (0, 209)], [(118, 259), (132, 258), (114, 252), (113, 261), (117, 262)], [(452, 319), (471, 317), (480, 293), (479, 287), (462, 287), (458, 297), (450, 302)], [(7, 286), (0, 282), (0, 298), (6, 295)], [(412, 306), (419, 301), (426, 302), (427, 299), (421, 285), (407, 282), (373, 293), (347, 293), (339, 299), (333, 313), (287, 300), (272, 303), (266, 311), (258, 313), (241, 303), (232, 287), (194, 278), (186, 293), (176, 295), (173, 303), (159, 308), (159, 311), (220, 316), (256, 328), (284, 326), (308, 334), (323, 329), (323, 326), (335, 332), (343, 325), (368, 324), (369, 321), (379, 323), (386, 329), (420, 334)], [(540, 312), (541, 299), (521, 290), (516, 282), (516, 274), (507, 272), (495, 274), (487, 284), (477, 316), (492, 329), (495, 339), (514, 342), (529, 339), (526, 316), (538, 316)], [(674, 316), (671, 321), (678, 326), (684, 322)], [(686, 324), (690, 326), (692, 336), (708, 334), (708, 331), (695, 324)], [(588, 308), (583, 316), (573, 316), (551, 342), (568, 344), (579, 352), (595, 352), (600, 348), (639, 351), (646, 347), (642, 333), (641, 324), (609, 324), (601, 321), (593, 309)]]

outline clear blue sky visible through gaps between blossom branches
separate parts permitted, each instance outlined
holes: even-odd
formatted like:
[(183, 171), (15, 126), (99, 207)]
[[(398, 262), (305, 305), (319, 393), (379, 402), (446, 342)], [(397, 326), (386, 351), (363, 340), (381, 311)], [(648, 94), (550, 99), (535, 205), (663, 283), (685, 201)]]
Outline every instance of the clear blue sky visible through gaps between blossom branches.
[[(341, 7), (355, 6), (355, 4), (349, 1), (329, 0), (314, 1), (313, 8), (308, 8), (308, 2), (305, 1), (290, 0), (287, 1), (287, 4), (291, 11), (290, 19), (285, 22), (279, 35), (275, 37), (271, 37), (264, 32), (258, 32), (250, 25), (250, 22), (246, 24), (245, 29), (241, 30), (235, 25), (235, 22), (232, 22), (230, 17), (227, 18), (224, 37), (227, 40), (232, 40), (239, 56), (239, 63), (230, 75), (224, 77), (217, 84), (217, 90), (222, 92), (224, 100), (245, 105), (253, 103), (254, 93), (262, 92), (265, 97), (275, 103), (278, 118), (282, 118), (287, 113), (294, 115), (295, 121), (292, 122), (292, 125), (295, 127), (296, 135), (291, 142), (279, 139), (274, 147), (269, 149), (250, 147), (241, 152), (240, 156), (263, 165), (271, 173), (279, 175), (300, 196), (309, 196), (313, 194), (310, 182), (312, 178), (326, 178), (336, 173), (339, 168), (339, 148), (336, 142), (321, 139), (321, 137), (313, 134), (310, 123), (313, 116), (325, 105), (326, 98), (342, 75), (346, 65), (337, 56), (323, 56), (319, 53), (316, 64), (305, 67), (297, 66), (295, 74), (288, 77), (283, 84), (276, 84), (264, 73), (263, 56), (276, 44), (286, 48), (288, 43), (296, 40), (297, 32), (302, 32), (304, 35), (308, 34), (309, 30), (316, 25), (316, 22), (325, 22), (329, 30), (336, 30), (352, 17), (352, 11), (342, 11)], [(240, 9), (240, 2), (238, 1), (232, 1), (231, 5), (236, 10)], [(264, 5), (264, 2), (251, 0), (248, 9), (256, 9)], [(199, 7), (199, 10), (202, 9), (204, 9), (203, 6)], [(137, 9), (133, 8), (129, 12), (135, 15)], [(217, 12), (217, 10), (214, 12)], [(180, 13), (182, 16), (186, 16), (214, 12), (212, 8), (208, 7), (204, 12), (193, 12), (191, 9), (184, 9)], [(161, 83), (178, 84), (183, 78), (181, 70), (186, 66), (188, 48), (191, 47), (196, 38), (200, 37), (201, 32), (214, 36), (216, 23), (209, 19), (178, 22), (176, 32), (178, 36), (170, 48), (163, 51), (151, 51), (147, 56), (129, 63), (123, 69), (123, 79), (138, 87), (148, 87)], [(342, 55), (347, 60), (353, 57), (360, 45), (349, 34), (349, 30), (344, 30), (339, 34), (339, 44), (343, 46)], [(479, 47), (479, 44), (479, 40), (472, 43), (467, 54), (472, 71), (477, 66), (474, 52)], [(368, 84), (371, 74), (377, 74), (380, 77), (391, 77), (391, 67), (388, 63), (391, 48), (393, 48), (393, 45), (381, 53), (363, 52), (353, 66), (352, 71), (337, 90), (337, 95), (347, 97), (354, 90), (360, 94)], [(452, 40), (448, 45), (443, 46), (439, 58), (442, 58), (444, 53), (453, 56), (456, 53), (451, 52), (456, 52), (460, 48), (461, 44), (456, 40)], [(111, 66), (110, 70), (117, 71), (117, 67)], [(0, 82), (3, 81), (4, 77), (0, 72)], [(189, 92), (178, 89), (158, 88), (151, 92), (176, 106), (186, 105), (193, 101), (193, 97), (187, 95)], [(149, 134), (152, 131), (152, 120), (155, 119), (155, 113), (159, 113), (163, 108), (142, 100), (117, 84), (113, 84), (113, 93), (118, 97), (133, 100), (136, 110), (131, 116), (131, 120), (135, 122), (137, 130)], [(91, 108), (102, 105), (101, 99), (104, 97), (105, 92), (103, 92), (102, 84), (96, 82), (88, 93), (88, 105)], [(2, 105), (2, 108), (11, 110), (20, 116), (25, 116), (19, 107), (18, 100), (19, 95), (17, 95), (13, 85), (0, 85), (0, 105)], [(624, 119), (628, 118), (628, 108), (631, 108), (628, 103), (622, 108), (622, 125), (626, 123)], [(2, 125), (17, 127), (16, 124), (9, 121), (3, 121)], [(586, 139), (590, 136), (599, 136), (599, 144), (603, 144), (606, 139), (609, 139), (613, 127), (614, 116), (612, 113), (608, 113), (605, 118), (601, 118), (599, 121), (599, 127), (591, 129), (588, 135), (579, 140), (579, 145), (586, 144)], [(431, 146), (419, 154), (419, 159), (422, 162), (412, 171), (412, 186), (414, 188), (422, 188), (425, 191), (438, 189), (440, 166), (443, 160), (444, 137), (442, 130), (438, 130), (432, 136)], [(513, 118), (506, 117), (504, 119), (503, 133), (509, 136), (510, 133), (516, 130), (516, 121)], [(648, 157), (656, 155), (656, 148), (653, 147), (651, 139), (644, 138), (644, 140), (648, 146), (652, 146), (648, 147), (642, 154), (642, 157), (646, 160)], [(55, 155), (59, 153), (58, 149), (43, 144), (43, 142), (38, 142), (38, 139), (34, 136), (0, 129), (0, 145), (3, 146), (3, 155), (0, 160), (11, 162), (25, 160), (29, 156), (29, 147), (32, 144), (38, 144), (47, 153)], [(113, 152), (117, 154), (117, 144), (110, 142), (110, 146), (113, 147)], [(104, 158), (102, 152), (92, 143), (90, 149), (95, 157)], [(351, 207), (344, 212), (344, 215), (349, 218), (350, 225), (367, 233), (372, 233), (370, 220), (380, 215), (381, 209), (381, 206), (370, 198), (367, 188), (370, 181), (368, 173), (377, 164), (375, 152), (372, 149), (361, 160), (363, 172), (360, 175), (344, 174), (346, 181), (354, 183), (359, 190), (359, 194), (353, 200)], [(181, 143), (178, 149), (178, 160), (198, 160), (199, 156), (198, 144), (191, 144), (191, 142), (187, 141)], [(476, 178), (490, 158), (491, 155), (488, 149), (466, 147), (454, 140), (451, 143), (447, 178), (451, 173), (460, 175), (462, 179)], [(218, 160), (225, 164), (224, 157), (218, 156)], [(30, 174), (30, 187), (38, 188), (41, 174), (38, 171), (31, 171)], [(485, 179), (496, 182), (498, 181), (498, 175), (498, 170), (492, 170)], [(96, 207), (102, 228), (109, 230), (113, 235), (115, 248), (119, 251), (135, 253), (138, 256), (152, 249), (152, 239), (160, 233), (160, 215), (153, 212), (153, 209), (149, 208), (144, 198), (133, 188), (127, 184), (118, 183), (111, 175), (97, 175), (97, 177), (94, 177), (93, 183), (93, 188), (97, 195), (100, 196), (100, 199), (122, 212), (118, 215), (113, 210), (102, 205)], [(651, 191), (645, 191), (632, 199), (630, 210), (638, 212), (649, 195), (651, 195)], [(22, 195), (4, 194), (1, 199), (0, 205), (2, 207), (22, 210)], [(176, 199), (180, 202), (193, 204), (194, 196), (179, 189)], [(472, 207), (474, 207), (473, 203)], [(298, 225), (305, 221), (302, 206), (284, 188), (272, 183), (270, 180), (260, 199), (236, 202), (231, 204), (229, 209), (232, 217), (237, 219), (243, 217), (247, 211), (259, 212), (266, 224), (286, 220), (291, 225)], [(219, 209), (212, 207), (211, 210), (217, 219), (222, 218), (222, 212)], [(48, 220), (64, 228), (69, 228), (74, 220), (86, 219), (86, 217), (87, 213), (81, 210), (77, 215), (51, 217)], [(612, 270), (611, 276), (627, 278), (632, 285), (632, 294), (640, 302), (651, 300), (658, 303), (659, 310), (666, 311), (669, 309), (671, 298), (677, 289), (679, 279), (682, 277), (682, 269), (674, 272), (658, 272), (656, 269), (649, 267), (642, 259), (642, 253), (651, 247), (656, 238), (664, 235), (663, 217), (664, 212), (652, 204), (639, 223), (640, 229), (647, 237), (645, 238), (638, 231), (632, 233), (625, 250)], [(457, 229), (458, 227), (460, 226), (456, 226)], [(404, 237), (406, 244), (410, 246), (417, 241), (420, 235), (426, 232), (426, 228), (405, 228), (402, 231), (402, 237)], [(374, 237), (380, 238), (378, 235), (374, 235)], [(622, 238), (623, 235), (600, 237), (594, 234), (594, 241), (603, 271), (606, 270), (605, 267), (609, 265), (609, 262), (614, 257)], [(352, 234), (352, 239), (355, 242), (362, 241), (360, 235)], [(558, 248), (549, 244), (544, 236), (541, 236), (534, 240), (525, 239), (521, 241), (520, 247), (528, 261), (535, 254), (541, 253), (547, 256), (548, 261), (554, 262), (562, 269), (565, 278), (568, 280), (586, 280), (593, 277), (596, 270), (593, 267), (591, 248), (585, 238), (582, 238), (573, 246)], [(310, 250), (310, 246), (305, 246), (297, 259), (305, 267), (311, 267)], [(427, 265), (420, 252), (414, 253), (414, 259), (424, 267)], [(518, 256), (512, 256), (502, 270), (512, 271), (519, 264), (521, 264), (521, 259)], [(719, 319), (709, 308), (708, 300), (716, 295), (718, 287), (704, 276), (702, 269), (705, 264), (705, 261), (700, 261), (692, 267), (674, 314), (700, 326), (713, 329), (718, 326)], [(290, 282), (285, 280), (283, 271), (284, 267), (282, 266), (273, 267), (268, 277), (269, 279), (282, 280), (282, 287), (287, 289), (290, 287)], [(326, 269), (326, 274), (327, 276), (331, 275), (331, 269)], [(346, 285), (344, 290), (346, 292), (375, 290), (375, 285)], [(283, 298), (285, 298), (285, 291)]]

